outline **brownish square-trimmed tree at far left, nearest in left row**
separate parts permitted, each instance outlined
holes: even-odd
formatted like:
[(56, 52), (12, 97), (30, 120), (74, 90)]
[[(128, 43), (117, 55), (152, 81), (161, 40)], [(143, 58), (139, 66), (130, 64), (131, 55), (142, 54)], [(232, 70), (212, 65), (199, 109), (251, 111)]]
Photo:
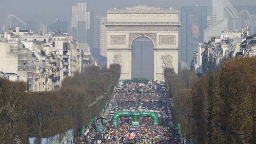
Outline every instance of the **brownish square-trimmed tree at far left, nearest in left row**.
[(24, 140), (20, 129), (24, 125), (26, 84), (0, 78), (0, 141), (16, 143)]

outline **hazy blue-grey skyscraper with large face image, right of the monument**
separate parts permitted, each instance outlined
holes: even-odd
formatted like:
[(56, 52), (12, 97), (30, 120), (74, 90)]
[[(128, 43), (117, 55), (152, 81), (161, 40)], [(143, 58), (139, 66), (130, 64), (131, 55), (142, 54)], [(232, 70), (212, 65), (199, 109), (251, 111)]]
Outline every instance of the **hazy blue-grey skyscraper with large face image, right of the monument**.
[(203, 42), (203, 32), (207, 28), (206, 6), (184, 6), (181, 11), (180, 57), (182, 64), (190, 66), (194, 52)]

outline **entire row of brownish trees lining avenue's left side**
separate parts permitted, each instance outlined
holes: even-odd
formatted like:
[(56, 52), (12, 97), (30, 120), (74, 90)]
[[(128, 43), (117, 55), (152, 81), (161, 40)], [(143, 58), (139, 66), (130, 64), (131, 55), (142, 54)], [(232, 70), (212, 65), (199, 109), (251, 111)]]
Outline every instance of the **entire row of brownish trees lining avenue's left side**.
[[(65, 78), (59, 90), (31, 93), (25, 92), (25, 83), (0, 79), (1, 143), (27, 143), (29, 137), (41, 142), (42, 137), (69, 129), (77, 132), (102, 111), (119, 76), (119, 65), (109, 69), (92, 66)], [(103, 93), (104, 98), (88, 107)]]

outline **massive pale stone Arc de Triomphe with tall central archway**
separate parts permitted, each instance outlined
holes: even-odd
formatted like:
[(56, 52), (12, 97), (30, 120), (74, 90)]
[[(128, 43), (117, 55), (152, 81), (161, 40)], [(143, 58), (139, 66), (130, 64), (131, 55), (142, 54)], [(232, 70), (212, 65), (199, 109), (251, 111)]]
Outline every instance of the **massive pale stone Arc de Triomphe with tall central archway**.
[[(163, 80), (164, 68), (178, 73), (179, 12), (149, 6), (107, 11), (107, 64), (120, 64), (121, 79), (131, 79), (131, 46), (139, 37), (154, 46), (154, 80)], [(152, 64), (148, 64), (152, 65)]]

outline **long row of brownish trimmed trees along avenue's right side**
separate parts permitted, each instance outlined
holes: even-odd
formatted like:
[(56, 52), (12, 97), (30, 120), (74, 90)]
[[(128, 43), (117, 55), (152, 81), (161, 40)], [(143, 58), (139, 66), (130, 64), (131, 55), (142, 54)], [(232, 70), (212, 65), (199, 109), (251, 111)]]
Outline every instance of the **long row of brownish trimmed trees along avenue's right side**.
[(256, 57), (237, 57), (201, 78), (165, 70), (173, 118), (197, 143), (255, 143)]

